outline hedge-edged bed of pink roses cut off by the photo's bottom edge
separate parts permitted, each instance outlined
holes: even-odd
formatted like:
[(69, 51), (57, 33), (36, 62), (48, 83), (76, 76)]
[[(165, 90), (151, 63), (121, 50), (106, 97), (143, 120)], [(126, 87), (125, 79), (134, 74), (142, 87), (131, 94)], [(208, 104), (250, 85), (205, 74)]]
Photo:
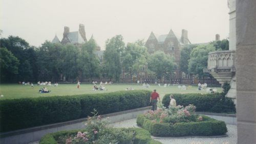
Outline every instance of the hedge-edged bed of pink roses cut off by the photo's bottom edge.
[(60, 131), (42, 137), (39, 144), (52, 143), (156, 143), (150, 133), (141, 128), (113, 128), (106, 125), (100, 116), (89, 117), (86, 128), (82, 130)]

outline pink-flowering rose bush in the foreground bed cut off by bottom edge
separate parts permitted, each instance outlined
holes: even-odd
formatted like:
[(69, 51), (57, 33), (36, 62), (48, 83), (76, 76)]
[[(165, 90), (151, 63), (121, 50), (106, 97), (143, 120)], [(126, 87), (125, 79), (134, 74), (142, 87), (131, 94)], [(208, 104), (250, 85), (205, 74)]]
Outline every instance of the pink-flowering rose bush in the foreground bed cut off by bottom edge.
[(83, 132), (77, 132), (66, 138), (66, 144), (87, 144), (87, 143), (131, 143), (134, 137), (133, 131), (122, 131), (106, 125), (106, 120), (102, 119), (94, 109), (92, 117), (88, 116), (86, 128)]

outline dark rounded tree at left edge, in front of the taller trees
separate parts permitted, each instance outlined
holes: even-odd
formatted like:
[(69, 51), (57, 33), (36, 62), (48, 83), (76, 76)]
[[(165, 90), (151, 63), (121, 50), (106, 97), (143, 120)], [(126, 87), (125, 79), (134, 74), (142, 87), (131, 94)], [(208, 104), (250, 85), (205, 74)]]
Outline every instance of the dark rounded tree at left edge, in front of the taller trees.
[(13, 75), (18, 73), (18, 65), (18, 59), (5, 47), (0, 47), (0, 81), (10, 82)]

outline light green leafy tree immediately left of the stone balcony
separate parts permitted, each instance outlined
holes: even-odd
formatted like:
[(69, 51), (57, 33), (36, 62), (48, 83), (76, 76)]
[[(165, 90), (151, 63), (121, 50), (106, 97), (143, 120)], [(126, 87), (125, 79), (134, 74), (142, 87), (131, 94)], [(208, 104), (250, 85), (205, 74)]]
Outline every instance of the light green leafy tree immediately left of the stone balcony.
[(209, 76), (209, 74), (203, 73), (203, 69), (207, 67), (208, 53), (214, 52), (214, 44), (202, 44), (195, 47), (188, 62), (188, 73), (198, 75), (199, 78)]

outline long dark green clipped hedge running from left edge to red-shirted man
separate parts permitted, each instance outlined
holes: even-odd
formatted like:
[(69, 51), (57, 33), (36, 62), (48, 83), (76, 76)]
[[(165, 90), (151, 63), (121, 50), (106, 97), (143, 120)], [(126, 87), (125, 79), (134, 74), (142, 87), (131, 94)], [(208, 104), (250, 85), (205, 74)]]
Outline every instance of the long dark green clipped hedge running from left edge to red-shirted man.
[(0, 101), (0, 132), (66, 122), (98, 114), (130, 110), (150, 105), (148, 90), (117, 91)]

